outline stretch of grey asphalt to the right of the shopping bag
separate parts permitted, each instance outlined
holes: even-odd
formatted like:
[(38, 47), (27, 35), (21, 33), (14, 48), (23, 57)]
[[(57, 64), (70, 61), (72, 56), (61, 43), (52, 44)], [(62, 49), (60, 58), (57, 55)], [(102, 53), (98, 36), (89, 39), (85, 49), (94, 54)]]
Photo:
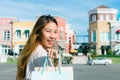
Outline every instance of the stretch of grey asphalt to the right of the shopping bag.
[(74, 64), (72, 66), (74, 80), (120, 80), (120, 64), (108, 66)]

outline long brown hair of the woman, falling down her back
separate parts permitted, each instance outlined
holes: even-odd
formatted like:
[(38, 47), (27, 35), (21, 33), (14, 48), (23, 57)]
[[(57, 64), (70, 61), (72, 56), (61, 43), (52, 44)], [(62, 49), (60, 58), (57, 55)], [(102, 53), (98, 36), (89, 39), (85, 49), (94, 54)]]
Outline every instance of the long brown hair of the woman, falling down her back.
[(34, 28), (31, 32), (31, 35), (24, 49), (20, 53), (20, 57), (18, 60), (18, 65), (17, 65), (16, 80), (25, 79), (26, 66), (31, 56), (31, 53), (33, 52), (33, 50), (36, 49), (36, 47), (40, 43), (40, 40), (42, 37), (42, 29), (44, 28), (44, 26), (46, 26), (51, 21), (54, 22), (56, 25), (58, 25), (55, 18), (50, 15), (42, 15), (41, 17), (38, 18), (37, 22), (35, 23)]

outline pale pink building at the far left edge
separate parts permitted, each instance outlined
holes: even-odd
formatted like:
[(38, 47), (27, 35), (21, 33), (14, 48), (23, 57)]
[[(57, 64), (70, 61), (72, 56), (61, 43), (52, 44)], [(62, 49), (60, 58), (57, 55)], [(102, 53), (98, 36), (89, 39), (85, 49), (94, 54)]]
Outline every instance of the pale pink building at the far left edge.
[(16, 18), (0, 17), (0, 54), (8, 54), (12, 46), (12, 22)]

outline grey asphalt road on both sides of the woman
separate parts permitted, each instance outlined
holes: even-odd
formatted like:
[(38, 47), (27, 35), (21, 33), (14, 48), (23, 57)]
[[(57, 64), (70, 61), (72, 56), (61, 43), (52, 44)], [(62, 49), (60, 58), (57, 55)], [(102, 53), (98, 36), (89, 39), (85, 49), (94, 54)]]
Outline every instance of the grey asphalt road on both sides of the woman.
[[(63, 66), (73, 66), (74, 80), (119, 80), (119, 65), (85, 65), (69, 64)], [(16, 65), (0, 64), (0, 80), (15, 80)]]

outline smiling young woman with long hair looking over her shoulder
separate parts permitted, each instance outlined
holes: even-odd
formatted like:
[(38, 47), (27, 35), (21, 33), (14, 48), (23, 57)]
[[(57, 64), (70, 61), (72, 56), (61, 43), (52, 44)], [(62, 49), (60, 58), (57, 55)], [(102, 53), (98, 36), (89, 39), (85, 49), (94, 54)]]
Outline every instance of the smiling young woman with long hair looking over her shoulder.
[(30, 80), (35, 67), (43, 67), (48, 55), (48, 66), (53, 66), (51, 58), (57, 58), (57, 51), (52, 49), (57, 38), (57, 21), (50, 15), (41, 16), (31, 32), (22, 50), (16, 80)]

